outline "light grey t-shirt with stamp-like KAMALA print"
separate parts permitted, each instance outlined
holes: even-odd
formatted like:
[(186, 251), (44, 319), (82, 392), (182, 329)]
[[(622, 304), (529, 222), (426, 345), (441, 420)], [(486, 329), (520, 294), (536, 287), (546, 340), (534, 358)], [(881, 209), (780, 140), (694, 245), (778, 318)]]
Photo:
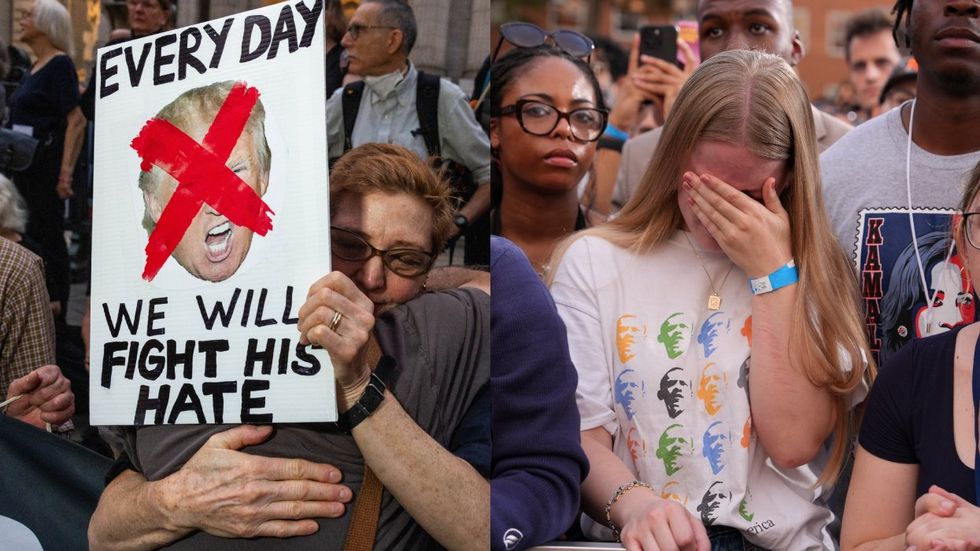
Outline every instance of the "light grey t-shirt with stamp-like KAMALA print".
[[(954, 251), (950, 262), (945, 259), (952, 214), (980, 151), (942, 156), (913, 143), (910, 220), (907, 143), (901, 109), (893, 109), (820, 156), (827, 212), (857, 270), (868, 338), (882, 362), (912, 338), (976, 319), (959, 255)], [(913, 224), (924, 274), (912, 245)], [(922, 275), (930, 297), (936, 294), (931, 312)]]

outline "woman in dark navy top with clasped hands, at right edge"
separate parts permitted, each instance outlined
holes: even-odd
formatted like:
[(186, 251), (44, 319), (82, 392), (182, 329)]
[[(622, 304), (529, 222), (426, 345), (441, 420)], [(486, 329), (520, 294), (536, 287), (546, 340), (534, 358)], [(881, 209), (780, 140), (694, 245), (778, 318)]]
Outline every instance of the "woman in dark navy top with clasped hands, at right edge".
[[(969, 285), (980, 274), (980, 163), (959, 212), (952, 239), (961, 261), (947, 255), (941, 269)], [(936, 302), (954, 299), (961, 303)], [(980, 549), (978, 400), (980, 323), (914, 339), (888, 358), (868, 395), (842, 549)]]

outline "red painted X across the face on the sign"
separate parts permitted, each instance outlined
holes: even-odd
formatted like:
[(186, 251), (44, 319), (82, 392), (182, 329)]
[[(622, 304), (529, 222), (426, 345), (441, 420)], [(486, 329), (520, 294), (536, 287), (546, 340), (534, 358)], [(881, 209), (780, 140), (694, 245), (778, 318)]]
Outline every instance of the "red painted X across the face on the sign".
[(258, 99), (257, 89), (236, 82), (200, 144), (162, 119), (147, 121), (133, 139), (131, 146), (143, 159), (141, 170), (146, 172), (156, 165), (177, 180), (177, 189), (146, 244), (143, 279), (152, 281), (156, 277), (202, 203), (259, 235), (272, 229), (270, 215), (275, 213), (225, 166)]

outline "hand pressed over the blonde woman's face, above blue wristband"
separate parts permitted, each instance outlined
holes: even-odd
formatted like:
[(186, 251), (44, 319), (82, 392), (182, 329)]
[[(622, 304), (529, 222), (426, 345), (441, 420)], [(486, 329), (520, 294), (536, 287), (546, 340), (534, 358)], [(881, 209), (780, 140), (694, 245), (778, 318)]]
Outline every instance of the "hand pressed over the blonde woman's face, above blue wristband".
[(775, 178), (763, 182), (761, 200), (710, 174), (686, 172), (683, 185), (698, 220), (750, 278), (768, 275), (793, 258), (789, 214)]

